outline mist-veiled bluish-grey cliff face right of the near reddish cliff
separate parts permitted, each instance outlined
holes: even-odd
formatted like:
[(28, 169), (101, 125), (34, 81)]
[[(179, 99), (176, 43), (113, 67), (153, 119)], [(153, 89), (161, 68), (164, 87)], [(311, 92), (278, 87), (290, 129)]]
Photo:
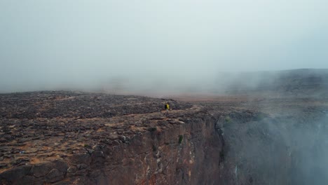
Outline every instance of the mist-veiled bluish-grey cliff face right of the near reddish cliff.
[(221, 121), (225, 158), (219, 184), (328, 183), (327, 99), (261, 100), (244, 106), (261, 113), (232, 111)]

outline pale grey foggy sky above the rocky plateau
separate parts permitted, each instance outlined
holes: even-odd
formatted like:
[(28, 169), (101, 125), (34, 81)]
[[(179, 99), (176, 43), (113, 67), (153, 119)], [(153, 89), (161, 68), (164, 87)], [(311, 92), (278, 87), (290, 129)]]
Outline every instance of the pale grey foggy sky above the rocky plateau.
[(328, 68), (327, 7), (326, 0), (0, 0), (0, 88)]

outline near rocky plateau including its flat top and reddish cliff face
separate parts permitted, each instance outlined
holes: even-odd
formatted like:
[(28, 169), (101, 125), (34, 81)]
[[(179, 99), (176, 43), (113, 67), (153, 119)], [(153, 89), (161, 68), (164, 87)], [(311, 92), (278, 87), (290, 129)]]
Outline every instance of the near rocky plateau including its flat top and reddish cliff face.
[[(0, 95), (1, 184), (215, 184), (226, 113), (78, 92)], [(170, 102), (172, 111), (160, 110)], [(217, 126), (217, 127), (216, 127)]]

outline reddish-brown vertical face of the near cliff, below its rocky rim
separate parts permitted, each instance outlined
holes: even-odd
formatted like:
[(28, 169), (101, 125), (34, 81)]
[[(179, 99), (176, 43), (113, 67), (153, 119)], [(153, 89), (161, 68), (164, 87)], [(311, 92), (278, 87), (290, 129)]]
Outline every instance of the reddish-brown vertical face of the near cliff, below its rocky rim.
[(216, 119), (180, 120), (115, 146), (15, 167), (1, 173), (1, 184), (217, 184), (223, 140)]

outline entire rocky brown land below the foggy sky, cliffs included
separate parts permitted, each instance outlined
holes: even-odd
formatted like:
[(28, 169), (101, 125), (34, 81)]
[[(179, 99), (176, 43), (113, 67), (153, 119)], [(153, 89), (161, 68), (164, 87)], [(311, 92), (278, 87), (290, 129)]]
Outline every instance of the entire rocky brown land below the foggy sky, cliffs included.
[(0, 184), (328, 184), (326, 77), (261, 95), (0, 94)]

